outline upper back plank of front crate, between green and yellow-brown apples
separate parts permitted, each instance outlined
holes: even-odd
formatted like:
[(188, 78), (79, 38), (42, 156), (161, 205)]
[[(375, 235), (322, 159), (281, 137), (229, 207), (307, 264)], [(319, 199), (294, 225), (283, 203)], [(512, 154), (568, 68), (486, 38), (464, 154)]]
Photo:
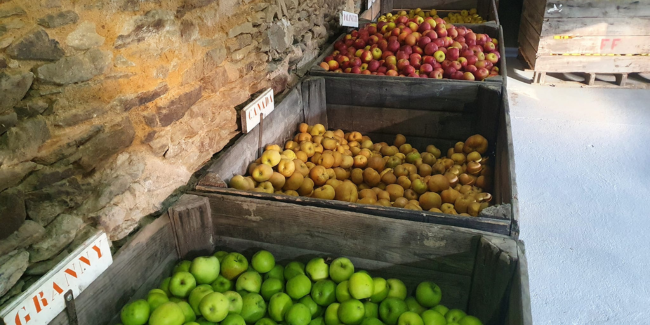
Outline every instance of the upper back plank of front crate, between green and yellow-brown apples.
[[(217, 236), (312, 250), (327, 246), (329, 252), (336, 255), (463, 275), (470, 275), (474, 267), (476, 245), (471, 243), (472, 238), (488, 235), (483, 231), (382, 218), (311, 204), (298, 206), (220, 193), (192, 194), (210, 199)], [(294, 197), (294, 200), (299, 199), (308, 198)], [(368, 243), (374, 243), (372, 250), (368, 250)]]

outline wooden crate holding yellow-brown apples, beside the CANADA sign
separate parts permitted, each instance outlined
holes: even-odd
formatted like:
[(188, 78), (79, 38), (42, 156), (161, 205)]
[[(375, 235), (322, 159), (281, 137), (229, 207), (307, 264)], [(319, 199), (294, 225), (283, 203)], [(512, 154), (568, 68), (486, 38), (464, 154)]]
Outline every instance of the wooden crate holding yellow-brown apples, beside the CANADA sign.
[[(364, 78), (365, 77), (365, 78)], [(426, 79), (387, 80), (375, 76), (359, 78), (312, 77), (293, 89), (259, 127), (224, 150), (207, 170), (196, 189), (241, 196), (262, 205), (261, 200), (296, 206), (315, 206), (356, 211), (382, 217), (466, 227), (517, 237), (518, 203), (512, 135), (506, 94), (497, 83), (429, 83)], [(279, 102), (279, 103), (278, 103)], [(413, 211), (309, 197), (266, 194), (224, 188), (219, 180), (245, 174), (257, 159), (260, 145), (284, 144), (298, 132), (298, 124), (322, 123), (328, 129), (359, 131), (375, 142), (393, 142), (396, 134), (420, 150), (434, 144), (441, 150), (480, 133), (494, 153), (493, 203), (510, 204), (505, 218), (465, 217), (428, 211)], [(220, 185), (221, 184), (221, 185)], [(306, 216), (306, 218), (308, 218)]]

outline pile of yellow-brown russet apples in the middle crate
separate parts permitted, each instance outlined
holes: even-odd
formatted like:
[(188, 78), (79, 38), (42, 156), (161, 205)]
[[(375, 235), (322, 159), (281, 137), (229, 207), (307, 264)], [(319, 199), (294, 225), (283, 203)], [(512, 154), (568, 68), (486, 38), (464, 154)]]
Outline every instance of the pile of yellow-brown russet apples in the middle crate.
[(300, 132), (268, 145), (230, 187), (387, 207), (478, 216), (492, 199), (488, 141), (473, 135), (446, 156), (429, 145), (420, 152), (398, 134), (392, 145), (359, 132), (300, 124)]

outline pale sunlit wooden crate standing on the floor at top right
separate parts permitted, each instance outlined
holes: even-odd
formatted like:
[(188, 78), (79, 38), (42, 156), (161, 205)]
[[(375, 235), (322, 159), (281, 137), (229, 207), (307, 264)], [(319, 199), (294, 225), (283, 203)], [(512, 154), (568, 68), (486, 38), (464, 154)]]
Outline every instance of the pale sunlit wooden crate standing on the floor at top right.
[(583, 72), (624, 83), (628, 73), (650, 72), (650, 1), (524, 0), (519, 50), (542, 81), (547, 72)]

